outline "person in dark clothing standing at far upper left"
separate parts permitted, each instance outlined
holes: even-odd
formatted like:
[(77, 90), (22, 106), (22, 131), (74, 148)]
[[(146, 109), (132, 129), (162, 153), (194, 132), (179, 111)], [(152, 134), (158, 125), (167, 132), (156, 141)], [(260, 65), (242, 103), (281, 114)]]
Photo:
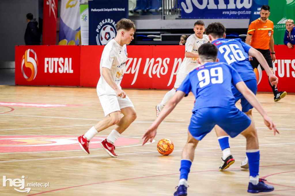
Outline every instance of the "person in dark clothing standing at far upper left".
[(33, 19), (33, 14), (27, 14), (27, 29), (24, 33), (24, 42), (26, 45), (40, 45), (40, 31), (38, 28), (38, 22)]

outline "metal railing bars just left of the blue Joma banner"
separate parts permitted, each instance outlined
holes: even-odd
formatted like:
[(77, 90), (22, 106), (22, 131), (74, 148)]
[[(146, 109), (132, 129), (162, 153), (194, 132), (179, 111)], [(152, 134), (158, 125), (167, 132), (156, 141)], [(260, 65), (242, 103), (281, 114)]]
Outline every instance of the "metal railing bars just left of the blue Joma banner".
[(178, 0), (162, 0), (162, 19), (171, 19), (169, 16), (174, 16), (175, 18), (181, 17)]

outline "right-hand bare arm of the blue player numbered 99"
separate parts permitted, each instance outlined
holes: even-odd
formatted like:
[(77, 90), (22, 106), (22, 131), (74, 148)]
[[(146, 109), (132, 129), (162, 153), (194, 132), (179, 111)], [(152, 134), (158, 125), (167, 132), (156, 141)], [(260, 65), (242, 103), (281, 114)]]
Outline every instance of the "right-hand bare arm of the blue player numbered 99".
[(246, 86), (245, 82), (238, 82), (236, 84), (236, 88), (243, 94), (243, 96), (247, 99), (247, 101), (257, 109), (257, 111), (261, 114), (264, 120), (264, 124), (269, 128), (273, 129), (274, 135), (276, 135), (276, 132), (278, 130), (276, 129), (276, 125), (271, 121), (271, 119), (268, 117), (266, 111), (261, 106), (260, 102), (256, 98), (255, 94)]

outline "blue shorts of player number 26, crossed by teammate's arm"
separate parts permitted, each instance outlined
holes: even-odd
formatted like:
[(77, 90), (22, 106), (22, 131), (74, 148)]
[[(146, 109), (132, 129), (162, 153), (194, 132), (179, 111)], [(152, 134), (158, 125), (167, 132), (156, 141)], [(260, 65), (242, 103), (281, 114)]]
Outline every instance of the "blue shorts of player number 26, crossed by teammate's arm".
[[(256, 95), (257, 92), (257, 81), (256, 79), (250, 79), (245, 81), (246, 86)], [(253, 106), (245, 99), (242, 93), (232, 86), (232, 94), (235, 97), (235, 103), (241, 99), (242, 112), (248, 112)]]

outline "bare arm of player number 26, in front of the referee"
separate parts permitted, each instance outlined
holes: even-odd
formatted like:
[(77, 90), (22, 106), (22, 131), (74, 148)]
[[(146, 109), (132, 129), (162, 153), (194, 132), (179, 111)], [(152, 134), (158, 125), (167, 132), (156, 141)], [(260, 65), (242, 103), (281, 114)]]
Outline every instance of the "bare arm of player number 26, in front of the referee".
[(269, 82), (271, 82), (272, 85), (277, 85), (278, 77), (276, 77), (275, 74), (273, 74), (271, 68), (269, 68), (268, 63), (266, 62), (263, 55), (255, 48), (250, 48), (248, 54), (250, 56), (255, 57), (258, 60), (259, 64), (264, 68), (266, 74), (268, 75)]

